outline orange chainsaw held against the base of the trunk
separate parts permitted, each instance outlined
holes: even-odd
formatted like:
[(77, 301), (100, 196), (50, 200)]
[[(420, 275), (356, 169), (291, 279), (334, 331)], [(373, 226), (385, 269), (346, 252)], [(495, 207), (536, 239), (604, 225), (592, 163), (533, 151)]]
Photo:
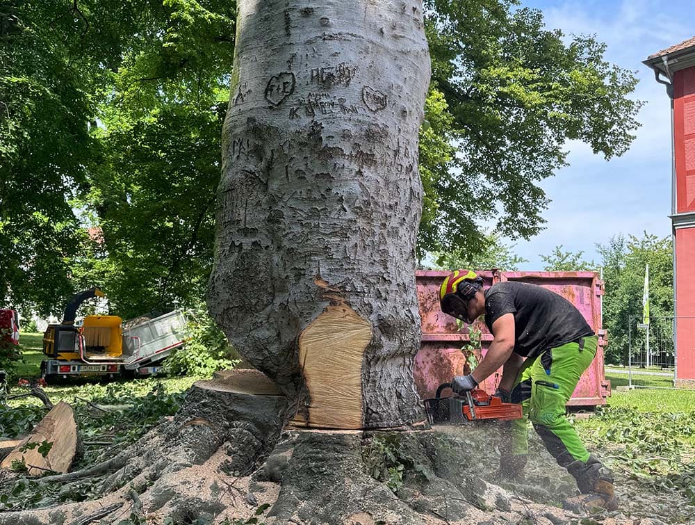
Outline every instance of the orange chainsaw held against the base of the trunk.
[(482, 389), (467, 391), (463, 395), (452, 394), (441, 397), (451, 383), (443, 383), (436, 389), (434, 398), (425, 399), (425, 412), (430, 425), (459, 424), (480, 419), (511, 421), (521, 418), (521, 405), (503, 403), (496, 396), (491, 396)]

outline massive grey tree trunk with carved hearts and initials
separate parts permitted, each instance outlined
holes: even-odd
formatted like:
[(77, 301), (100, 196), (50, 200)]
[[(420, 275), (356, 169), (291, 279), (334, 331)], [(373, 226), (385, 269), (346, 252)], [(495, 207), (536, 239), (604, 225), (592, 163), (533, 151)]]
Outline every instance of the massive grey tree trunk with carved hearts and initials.
[(295, 423), (409, 426), (421, 1), (238, 2), (208, 304)]

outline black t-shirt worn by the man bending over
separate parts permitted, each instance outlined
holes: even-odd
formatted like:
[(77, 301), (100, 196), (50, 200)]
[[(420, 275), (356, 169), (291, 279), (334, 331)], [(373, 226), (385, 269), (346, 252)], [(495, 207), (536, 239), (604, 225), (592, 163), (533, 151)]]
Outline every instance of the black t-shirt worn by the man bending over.
[(589, 323), (569, 300), (525, 282), (498, 282), (485, 291), (485, 324), (514, 314), (514, 352), (535, 357), (582, 337), (594, 335)]

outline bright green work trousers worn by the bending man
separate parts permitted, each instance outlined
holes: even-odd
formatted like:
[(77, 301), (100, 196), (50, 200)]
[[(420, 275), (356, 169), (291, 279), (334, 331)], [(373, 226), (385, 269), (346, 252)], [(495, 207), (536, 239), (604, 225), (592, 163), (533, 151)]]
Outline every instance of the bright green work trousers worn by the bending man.
[[(578, 342), (551, 348), (534, 359), (527, 359), (514, 382), (514, 393), (522, 387), (526, 395), (521, 400), (523, 418), (512, 422), (511, 447), (507, 453), (528, 453), (528, 420), (543, 439), (548, 452), (558, 464), (567, 467), (573, 461), (589, 460), (574, 427), (565, 416), (565, 405), (579, 378), (596, 356), (598, 338), (584, 337)], [(530, 396), (529, 394), (530, 387)]]

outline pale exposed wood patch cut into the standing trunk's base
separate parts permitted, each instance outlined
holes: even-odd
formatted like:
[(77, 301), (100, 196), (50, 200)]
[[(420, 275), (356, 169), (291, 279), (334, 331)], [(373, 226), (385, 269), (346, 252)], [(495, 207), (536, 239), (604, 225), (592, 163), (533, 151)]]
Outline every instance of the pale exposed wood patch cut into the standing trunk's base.
[(300, 336), (300, 365), (310, 404), (293, 423), (362, 428), (362, 362), (371, 325), (346, 305), (329, 306)]

